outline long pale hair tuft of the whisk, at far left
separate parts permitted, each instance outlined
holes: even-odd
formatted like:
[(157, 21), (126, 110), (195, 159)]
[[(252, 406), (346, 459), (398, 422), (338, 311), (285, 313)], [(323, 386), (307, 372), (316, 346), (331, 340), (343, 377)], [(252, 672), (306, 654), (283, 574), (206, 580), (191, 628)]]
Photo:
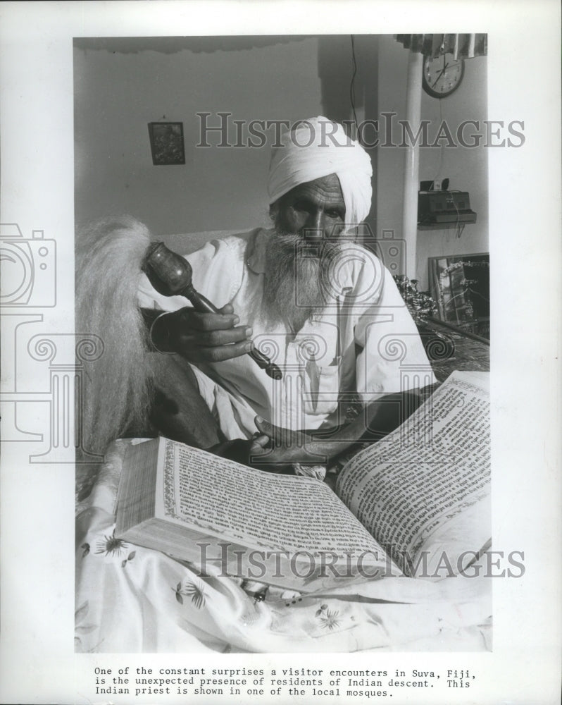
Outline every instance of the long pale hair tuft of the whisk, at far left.
[(76, 410), (82, 448), (92, 453), (104, 453), (127, 427), (147, 425), (153, 374), (137, 290), (149, 242), (149, 231), (130, 216), (97, 221), (77, 235), (76, 331), (104, 345), (99, 360), (85, 362)]

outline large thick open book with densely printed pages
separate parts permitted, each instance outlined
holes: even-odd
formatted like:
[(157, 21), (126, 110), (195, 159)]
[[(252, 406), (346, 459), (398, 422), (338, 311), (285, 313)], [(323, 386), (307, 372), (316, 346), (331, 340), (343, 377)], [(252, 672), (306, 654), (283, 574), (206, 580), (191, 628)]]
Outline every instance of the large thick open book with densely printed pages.
[(315, 591), (462, 572), (490, 536), (488, 373), (454, 372), (336, 492), (169, 439), (127, 449), (115, 536), (201, 571)]

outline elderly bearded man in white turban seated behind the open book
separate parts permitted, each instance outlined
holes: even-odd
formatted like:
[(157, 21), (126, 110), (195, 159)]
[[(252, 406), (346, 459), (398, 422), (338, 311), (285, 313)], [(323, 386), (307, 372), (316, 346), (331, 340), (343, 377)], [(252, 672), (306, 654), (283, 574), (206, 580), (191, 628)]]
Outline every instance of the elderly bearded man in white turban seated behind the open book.
[[(382, 411), (396, 404), (381, 399), (408, 391), (405, 369), (434, 381), (392, 276), (350, 238), (370, 209), (371, 174), (368, 154), (341, 125), (301, 121), (273, 151), (274, 227), (187, 257), (195, 288), (220, 312), (196, 312), (143, 278), (139, 304), (163, 353), (152, 419), (164, 434), (219, 452), (230, 452), (225, 440), (246, 439), (242, 458), (249, 450), (254, 462), (322, 463), (373, 419), (388, 424)], [(254, 346), (282, 379), (245, 355)], [(365, 406), (349, 422), (341, 402), (353, 394)]]

